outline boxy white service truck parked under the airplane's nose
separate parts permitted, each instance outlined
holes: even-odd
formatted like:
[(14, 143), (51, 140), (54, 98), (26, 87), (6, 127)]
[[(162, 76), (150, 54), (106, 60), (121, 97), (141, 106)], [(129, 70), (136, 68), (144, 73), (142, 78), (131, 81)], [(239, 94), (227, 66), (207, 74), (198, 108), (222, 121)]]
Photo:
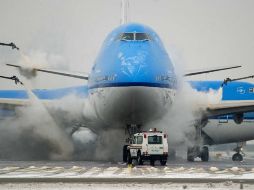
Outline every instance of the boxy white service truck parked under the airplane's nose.
[(154, 165), (157, 160), (161, 165), (166, 165), (168, 159), (167, 134), (156, 129), (134, 134), (127, 146), (126, 155), (129, 164), (136, 159), (139, 165), (142, 165), (144, 161), (150, 161), (150, 164)]

